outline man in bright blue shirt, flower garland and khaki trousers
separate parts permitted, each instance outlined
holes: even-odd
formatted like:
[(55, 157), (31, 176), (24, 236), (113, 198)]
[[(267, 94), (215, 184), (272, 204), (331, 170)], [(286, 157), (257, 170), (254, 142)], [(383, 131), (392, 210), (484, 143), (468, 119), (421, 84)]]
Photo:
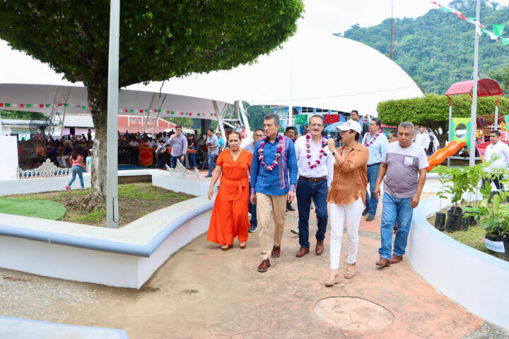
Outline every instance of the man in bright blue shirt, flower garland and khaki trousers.
[[(270, 267), (272, 258), (281, 255), (286, 202), (295, 199), (297, 184), (297, 157), (290, 138), (278, 133), (279, 117), (267, 114), (264, 117), (265, 138), (254, 147), (251, 164), (251, 203), (257, 204), (257, 220), (262, 249), (259, 272)], [(274, 214), (274, 226), (270, 214)], [(274, 239), (271, 239), (274, 237)], [(272, 251), (271, 251), (271, 245)]]

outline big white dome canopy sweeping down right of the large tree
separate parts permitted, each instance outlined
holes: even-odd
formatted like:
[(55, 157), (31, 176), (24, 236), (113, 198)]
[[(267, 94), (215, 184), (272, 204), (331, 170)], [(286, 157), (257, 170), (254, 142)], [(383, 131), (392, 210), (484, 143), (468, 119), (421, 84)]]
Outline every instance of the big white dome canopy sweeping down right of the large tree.
[[(160, 90), (161, 83), (131, 85)], [(376, 115), (378, 102), (423, 95), (397, 64), (365, 44), (300, 26), (256, 64), (166, 81), (163, 93), (250, 105), (293, 105)]]

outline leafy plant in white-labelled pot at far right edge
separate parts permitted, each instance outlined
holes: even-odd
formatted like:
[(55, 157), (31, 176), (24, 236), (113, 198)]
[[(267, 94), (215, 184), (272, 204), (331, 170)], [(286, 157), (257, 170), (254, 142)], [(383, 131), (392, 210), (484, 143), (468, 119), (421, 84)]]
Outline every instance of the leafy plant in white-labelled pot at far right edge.
[(481, 227), (486, 230), (486, 249), (509, 254), (509, 204), (505, 203), (508, 194), (505, 191), (492, 191), (488, 184), (481, 187), (480, 191), (483, 201), (479, 206), (466, 210), (478, 216)]

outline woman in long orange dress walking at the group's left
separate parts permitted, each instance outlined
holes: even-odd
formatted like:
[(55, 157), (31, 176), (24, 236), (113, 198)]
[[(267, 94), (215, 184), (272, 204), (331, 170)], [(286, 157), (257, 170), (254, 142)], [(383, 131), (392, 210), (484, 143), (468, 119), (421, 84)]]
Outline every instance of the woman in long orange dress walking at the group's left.
[(229, 148), (219, 153), (207, 194), (211, 200), (213, 187), (221, 177), (207, 240), (221, 244), (223, 251), (230, 249), (235, 237), (238, 237), (240, 248), (245, 249), (247, 230), (250, 227), (247, 217), (250, 197), (247, 174), (251, 169), (252, 154), (240, 148), (241, 140), (238, 132), (232, 132), (228, 136)]

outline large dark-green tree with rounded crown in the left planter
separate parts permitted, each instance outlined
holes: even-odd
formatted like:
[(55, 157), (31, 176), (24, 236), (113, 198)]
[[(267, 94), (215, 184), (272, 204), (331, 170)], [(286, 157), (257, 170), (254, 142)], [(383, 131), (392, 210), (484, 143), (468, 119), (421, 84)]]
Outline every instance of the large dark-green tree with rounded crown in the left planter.
[[(124, 0), (119, 87), (254, 61), (296, 32), (301, 0)], [(88, 90), (93, 206), (105, 197), (110, 1), (0, 1), (0, 38)]]

